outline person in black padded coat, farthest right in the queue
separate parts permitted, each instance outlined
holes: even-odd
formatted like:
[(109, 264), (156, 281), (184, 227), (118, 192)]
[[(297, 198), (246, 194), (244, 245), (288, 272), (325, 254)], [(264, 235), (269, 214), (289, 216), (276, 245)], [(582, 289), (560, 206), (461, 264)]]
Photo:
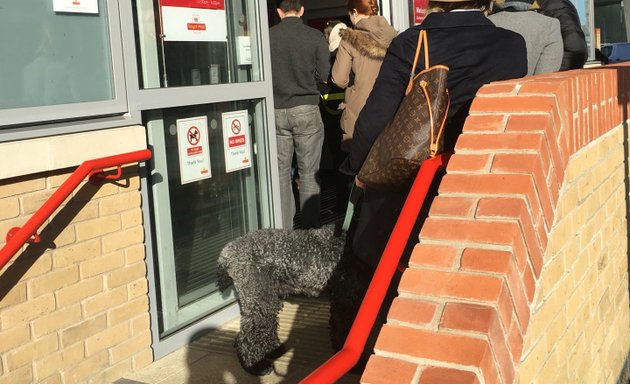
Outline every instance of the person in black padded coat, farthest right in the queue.
[(560, 21), (560, 33), (564, 45), (561, 71), (584, 67), (588, 59), (588, 47), (580, 17), (571, 0), (537, 0), (543, 15)]

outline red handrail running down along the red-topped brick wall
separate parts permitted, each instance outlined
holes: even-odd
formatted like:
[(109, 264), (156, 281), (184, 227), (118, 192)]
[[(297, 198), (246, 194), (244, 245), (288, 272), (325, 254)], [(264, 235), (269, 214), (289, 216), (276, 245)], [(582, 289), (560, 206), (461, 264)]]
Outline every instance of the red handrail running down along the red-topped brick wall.
[(443, 153), (422, 163), (343, 348), (303, 379), (301, 384), (334, 383), (359, 361), (429, 187), (436, 172), (446, 167), (451, 154)]

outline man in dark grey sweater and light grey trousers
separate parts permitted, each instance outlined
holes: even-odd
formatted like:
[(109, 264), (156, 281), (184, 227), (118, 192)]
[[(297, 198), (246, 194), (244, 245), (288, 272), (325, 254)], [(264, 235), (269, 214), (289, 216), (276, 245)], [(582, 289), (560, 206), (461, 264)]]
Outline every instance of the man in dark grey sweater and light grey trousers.
[(324, 35), (302, 22), (299, 0), (278, 2), (280, 23), (269, 31), (276, 117), (280, 203), (283, 228), (293, 228), (295, 200), (291, 187), (293, 153), (299, 174), (304, 228), (319, 227), (320, 184), (317, 179), (324, 142), (318, 82), (330, 74)]

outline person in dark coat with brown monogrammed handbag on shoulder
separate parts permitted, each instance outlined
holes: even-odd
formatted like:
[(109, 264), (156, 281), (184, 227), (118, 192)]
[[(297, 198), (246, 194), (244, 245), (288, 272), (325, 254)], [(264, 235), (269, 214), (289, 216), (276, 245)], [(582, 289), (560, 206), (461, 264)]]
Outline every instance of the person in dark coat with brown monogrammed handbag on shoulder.
[[(392, 40), (374, 88), (357, 119), (351, 151), (340, 167), (342, 173), (355, 177), (358, 186), (363, 186), (361, 180), (356, 179), (363, 161), (379, 133), (392, 120), (403, 98), (421, 29), (427, 30), (430, 65), (442, 64), (450, 69), (448, 89), (451, 106), (445, 126), (445, 150), (454, 148), (472, 100), (482, 85), (527, 74), (525, 40), (488, 20), (485, 11), (490, 3), (491, 0), (432, 1), (429, 3), (431, 13), (422, 24), (409, 28)], [(424, 69), (424, 60), (420, 58), (416, 73)], [(349, 259), (352, 260), (349, 268), (354, 274), (346, 273), (344, 281), (332, 285), (334, 292), (331, 297), (335, 297), (335, 301), (331, 301), (332, 334), (339, 332), (336, 328), (349, 330), (351, 320), (348, 324), (347, 320), (337, 319), (337, 314), (344, 311), (336, 306), (343, 303), (346, 308), (353, 306), (358, 310), (360, 303), (352, 303), (351, 299), (343, 300), (339, 296), (346, 291), (356, 291), (357, 285), (362, 285), (363, 292), (367, 290), (408, 194), (408, 190), (400, 193), (370, 186), (363, 188), (363, 199), (346, 237), (346, 248), (351, 252)], [(417, 243), (417, 232), (415, 239)], [(395, 283), (392, 286), (395, 287)], [(381, 307), (380, 319), (366, 346), (365, 354), (368, 356), (375, 331), (380, 329), (379, 323), (384, 320), (392, 299), (389, 295)], [(338, 349), (340, 345), (333, 340), (333, 347)], [(365, 354), (359, 365), (365, 362)]]

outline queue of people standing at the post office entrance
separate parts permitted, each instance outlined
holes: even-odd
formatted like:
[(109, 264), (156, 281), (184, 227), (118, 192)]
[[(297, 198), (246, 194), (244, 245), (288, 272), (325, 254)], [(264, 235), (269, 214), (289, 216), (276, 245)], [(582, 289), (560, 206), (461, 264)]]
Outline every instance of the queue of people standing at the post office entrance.
[[(347, 156), (339, 172), (354, 179), (355, 185), (363, 189), (363, 197), (356, 206), (346, 240), (354, 277), (346, 276), (344, 281), (333, 284), (336, 295), (367, 290), (408, 194), (408, 190), (372, 188), (357, 175), (372, 144), (392, 120), (405, 95), (420, 31), (427, 33), (431, 64), (449, 68), (450, 109), (444, 149), (452, 150), (472, 100), (484, 84), (584, 65), (584, 34), (580, 37), (576, 33), (579, 20), (576, 22), (573, 10), (563, 5), (568, 0), (538, 1), (540, 13), (532, 10), (537, 8), (533, 0), (505, 0), (501, 7), (494, 7), (494, 12), (493, 0), (432, 0), (421, 24), (398, 33), (379, 16), (377, 1), (349, 0), (347, 11), (352, 26), (337, 23), (328, 31), (327, 41), (323, 34), (302, 24), (299, 18), (304, 8), (299, 0), (279, 2), (282, 21), (271, 28), (271, 48), (285, 228), (292, 228), (295, 213), (287, 203), (291, 198), (293, 150), (303, 209), (308, 208), (303, 199), (314, 198), (318, 193), (315, 162), (321, 156), (324, 127), (316, 116), (316, 83), (332, 81), (345, 89), (340, 123), (343, 138), (339, 145)], [(562, 9), (564, 14), (554, 14), (556, 9)], [(416, 73), (425, 69), (423, 63), (423, 59), (418, 61)], [(305, 210), (303, 215), (308, 213)], [(309, 219), (309, 223), (318, 225), (316, 220)], [(389, 302), (392, 295), (388, 295)], [(360, 302), (354, 303), (355, 313), (359, 305)], [(380, 321), (386, 311), (387, 304)], [(333, 316), (334, 313), (331, 308)], [(349, 330), (352, 319), (331, 319), (331, 326)], [(335, 345), (340, 347), (339, 343)], [(366, 355), (371, 348), (368, 343)]]

